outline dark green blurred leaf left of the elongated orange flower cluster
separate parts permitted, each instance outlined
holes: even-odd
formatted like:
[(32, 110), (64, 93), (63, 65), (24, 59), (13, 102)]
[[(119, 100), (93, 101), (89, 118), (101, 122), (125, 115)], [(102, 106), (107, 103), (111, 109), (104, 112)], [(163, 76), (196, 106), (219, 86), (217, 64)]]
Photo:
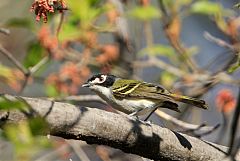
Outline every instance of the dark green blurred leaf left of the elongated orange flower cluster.
[(36, 65), (43, 58), (44, 49), (39, 42), (33, 42), (28, 47), (28, 54), (26, 55), (23, 65), (25, 67), (32, 67)]

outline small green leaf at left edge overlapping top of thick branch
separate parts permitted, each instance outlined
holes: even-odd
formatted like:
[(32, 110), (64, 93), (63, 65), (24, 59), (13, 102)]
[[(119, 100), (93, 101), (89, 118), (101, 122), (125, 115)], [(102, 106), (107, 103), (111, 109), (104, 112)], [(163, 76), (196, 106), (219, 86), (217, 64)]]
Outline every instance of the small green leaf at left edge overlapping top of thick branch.
[(23, 109), (24, 107), (26, 107), (26, 104), (20, 100), (8, 100), (0, 97), (1, 110)]

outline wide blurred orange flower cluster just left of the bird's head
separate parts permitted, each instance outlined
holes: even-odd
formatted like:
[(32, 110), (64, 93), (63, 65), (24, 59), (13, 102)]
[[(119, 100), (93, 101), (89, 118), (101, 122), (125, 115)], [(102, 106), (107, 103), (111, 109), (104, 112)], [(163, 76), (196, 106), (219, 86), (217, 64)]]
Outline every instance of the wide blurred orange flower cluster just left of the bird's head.
[(89, 75), (88, 67), (78, 67), (72, 62), (68, 62), (60, 69), (58, 74), (51, 74), (46, 83), (54, 85), (58, 91), (64, 94), (76, 94), (78, 87)]

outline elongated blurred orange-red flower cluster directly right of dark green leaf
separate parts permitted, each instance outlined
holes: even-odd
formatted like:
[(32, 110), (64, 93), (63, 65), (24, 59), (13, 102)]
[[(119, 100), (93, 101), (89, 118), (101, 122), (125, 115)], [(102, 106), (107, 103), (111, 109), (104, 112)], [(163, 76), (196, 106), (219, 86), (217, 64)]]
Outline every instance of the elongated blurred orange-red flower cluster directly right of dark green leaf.
[(38, 39), (41, 45), (52, 54), (54, 59), (62, 59), (63, 53), (59, 50), (58, 39), (56, 36), (51, 35), (48, 26), (43, 25), (41, 27), (38, 33)]

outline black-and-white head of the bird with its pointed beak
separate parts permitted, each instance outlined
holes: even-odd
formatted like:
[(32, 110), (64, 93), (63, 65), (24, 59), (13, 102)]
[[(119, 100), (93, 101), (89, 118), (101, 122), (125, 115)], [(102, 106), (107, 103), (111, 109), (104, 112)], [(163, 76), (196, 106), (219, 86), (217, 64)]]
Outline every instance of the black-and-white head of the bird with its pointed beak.
[(116, 76), (110, 74), (96, 74), (87, 80), (82, 87), (98, 89), (100, 87), (111, 87), (116, 80)]

